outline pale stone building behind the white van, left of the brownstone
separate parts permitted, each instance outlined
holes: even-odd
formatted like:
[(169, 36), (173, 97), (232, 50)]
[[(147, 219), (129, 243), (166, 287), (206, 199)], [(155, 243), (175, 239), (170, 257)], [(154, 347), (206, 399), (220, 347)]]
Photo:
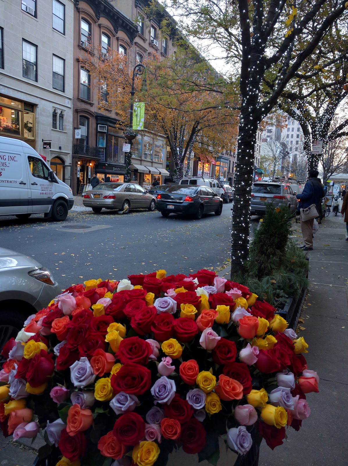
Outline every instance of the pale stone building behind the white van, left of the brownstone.
[(30, 144), (71, 185), (72, 0), (0, 1), (0, 135)]

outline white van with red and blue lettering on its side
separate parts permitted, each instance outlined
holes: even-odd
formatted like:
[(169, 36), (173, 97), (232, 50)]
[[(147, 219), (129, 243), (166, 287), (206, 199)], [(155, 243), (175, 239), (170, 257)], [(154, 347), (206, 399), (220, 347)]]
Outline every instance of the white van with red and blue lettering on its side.
[(0, 136), (0, 215), (29, 218), (44, 213), (65, 220), (73, 192), (29, 144)]

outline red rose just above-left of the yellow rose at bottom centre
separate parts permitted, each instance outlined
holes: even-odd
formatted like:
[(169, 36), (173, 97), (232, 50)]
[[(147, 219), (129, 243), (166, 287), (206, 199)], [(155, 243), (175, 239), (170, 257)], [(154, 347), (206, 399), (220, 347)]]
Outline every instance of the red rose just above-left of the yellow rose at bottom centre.
[(145, 436), (145, 421), (136, 412), (126, 412), (115, 422), (113, 432), (121, 445), (134, 446)]

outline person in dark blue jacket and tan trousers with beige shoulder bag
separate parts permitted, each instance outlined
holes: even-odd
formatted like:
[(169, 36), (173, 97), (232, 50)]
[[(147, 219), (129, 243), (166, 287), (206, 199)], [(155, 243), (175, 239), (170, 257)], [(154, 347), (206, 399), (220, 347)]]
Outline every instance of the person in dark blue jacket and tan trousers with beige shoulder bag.
[[(324, 189), (321, 181), (318, 179), (319, 171), (310, 170), (308, 175), (308, 181), (302, 193), (297, 195), (297, 199), (300, 200), (299, 207), (305, 209), (315, 204), (316, 210), (321, 217), (321, 199), (324, 197)], [(313, 251), (313, 224), (314, 219), (302, 220), (301, 218), (301, 232), (305, 243), (304, 246), (301, 246), (301, 249), (304, 251)]]

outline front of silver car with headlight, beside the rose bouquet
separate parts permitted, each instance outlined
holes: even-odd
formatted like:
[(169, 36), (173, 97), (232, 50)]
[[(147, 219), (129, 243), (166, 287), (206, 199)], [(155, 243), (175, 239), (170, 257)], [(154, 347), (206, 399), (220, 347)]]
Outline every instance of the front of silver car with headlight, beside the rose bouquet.
[(61, 292), (49, 270), (31, 257), (0, 247), (0, 352), (29, 315)]

